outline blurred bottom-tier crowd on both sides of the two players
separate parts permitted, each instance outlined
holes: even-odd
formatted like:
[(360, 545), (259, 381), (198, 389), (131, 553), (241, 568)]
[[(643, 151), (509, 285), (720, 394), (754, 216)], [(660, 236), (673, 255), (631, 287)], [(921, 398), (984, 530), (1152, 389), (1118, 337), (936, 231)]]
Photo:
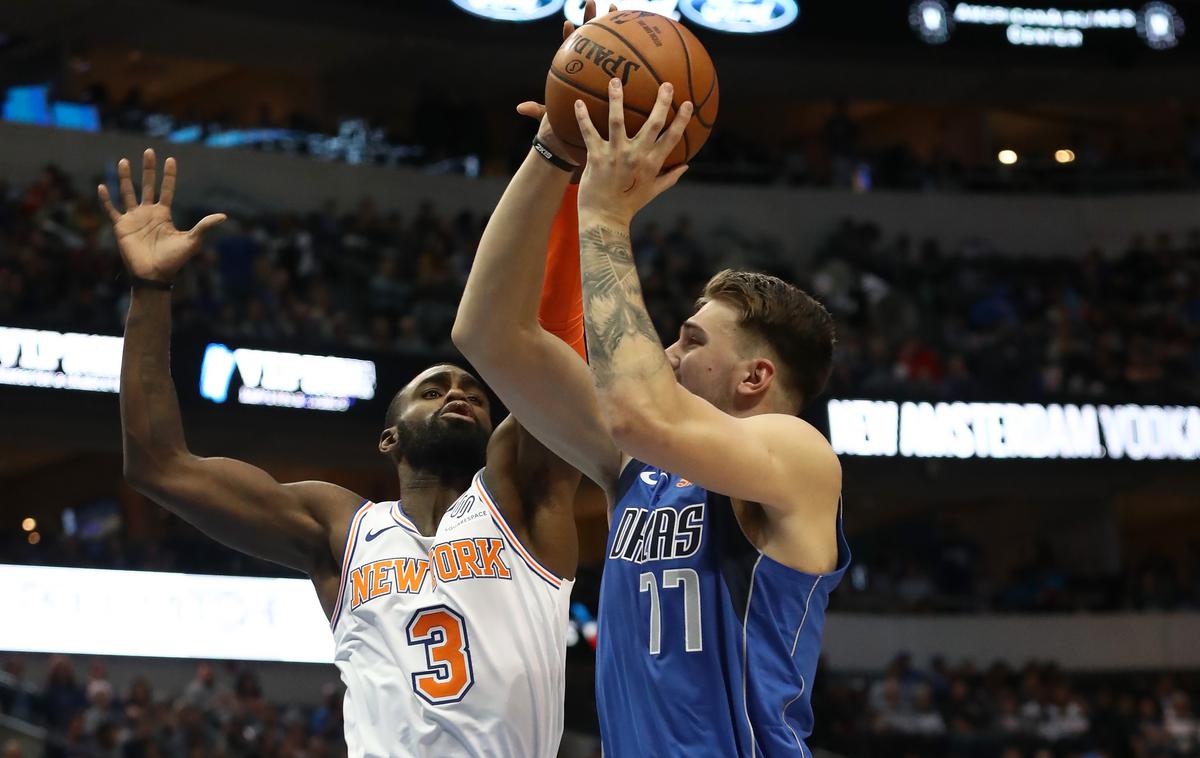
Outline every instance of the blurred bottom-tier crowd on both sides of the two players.
[[(245, 664), (200, 662), (181, 688), (150, 670), (115, 686), (102, 658), (54, 656), (35, 679), (4, 658), (0, 715), (47, 729), (49, 758), (326, 758), (344, 754), (341, 688), (319, 705), (270, 702)], [(582, 672), (581, 672), (582, 674)], [(1200, 754), (1200, 676), (1080, 674), (1052, 663), (980, 668), (899, 654), (878, 674), (822, 667), (814, 750), (862, 758), (1176, 758)], [(582, 704), (581, 704), (582, 706)], [(4, 758), (35, 758), (0, 742)]]

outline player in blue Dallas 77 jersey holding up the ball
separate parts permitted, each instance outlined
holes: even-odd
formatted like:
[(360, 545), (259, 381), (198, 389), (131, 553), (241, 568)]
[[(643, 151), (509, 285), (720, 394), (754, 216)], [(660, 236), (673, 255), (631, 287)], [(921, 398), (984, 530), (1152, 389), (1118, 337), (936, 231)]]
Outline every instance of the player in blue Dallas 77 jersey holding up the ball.
[(456, 343), (608, 497), (596, 651), (605, 754), (806, 756), (828, 594), (850, 563), (840, 464), (798, 417), (828, 379), (833, 321), (779, 278), (722, 271), (664, 349), (630, 223), (686, 170), (661, 173), (692, 107), (668, 125), (673, 86), (662, 84), (630, 137), (619, 79), (607, 96), (607, 139), (575, 103), (590, 367), (538, 327), (532, 305), (553, 209), (584, 158), (547, 118), (488, 222)]

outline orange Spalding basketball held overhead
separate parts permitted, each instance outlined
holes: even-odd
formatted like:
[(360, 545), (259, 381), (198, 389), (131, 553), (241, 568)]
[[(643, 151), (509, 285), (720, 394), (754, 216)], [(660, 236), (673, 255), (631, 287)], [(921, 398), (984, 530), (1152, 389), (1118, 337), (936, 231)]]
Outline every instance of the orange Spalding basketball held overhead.
[(648, 11), (617, 11), (576, 29), (558, 48), (546, 74), (546, 112), (559, 139), (583, 148), (575, 120), (576, 100), (587, 104), (596, 131), (608, 138), (608, 82), (614, 77), (624, 88), (625, 131), (630, 136), (650, 115), (664, 82), (674, 85), (667, 125), (686, 101), (695, 107), (664, 168), (685, 163), (700, 151), (716, 121), (720, 90), (708, 52), (690, 31)]

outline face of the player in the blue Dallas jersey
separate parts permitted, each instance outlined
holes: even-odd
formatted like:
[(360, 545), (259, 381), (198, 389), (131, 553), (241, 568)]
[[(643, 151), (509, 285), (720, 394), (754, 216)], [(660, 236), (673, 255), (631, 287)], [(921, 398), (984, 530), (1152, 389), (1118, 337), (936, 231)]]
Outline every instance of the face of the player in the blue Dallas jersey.
[(676, 379), (721, 410), (732, 407), (745, 361), (738, 353), (738, 313), (710, 300), (679, 327), (679, 339), (667, 348)]

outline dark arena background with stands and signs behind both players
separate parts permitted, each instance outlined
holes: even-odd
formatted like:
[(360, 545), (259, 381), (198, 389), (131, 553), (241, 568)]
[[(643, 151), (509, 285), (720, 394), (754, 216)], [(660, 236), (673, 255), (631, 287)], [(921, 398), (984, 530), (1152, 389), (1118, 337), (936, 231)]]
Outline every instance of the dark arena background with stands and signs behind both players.
[[(176, 288), (193, 450), (392, 498), (384, 408), (454, 357), (532, 133), (512, 107), (578, 4), (463, 5), (0, 5), (5, 758), (344, 752), (311, 591), (121, 479), (103, 337), (125, 284), (92, 187), (152, 146), (179, 160), (178, 221), (232, 217)], [(796, 6), (653, 5), (709, 25)], [(547, 16), (480, 16), (504, 8)], [(664, 335), (721, 265), (838, 320), (810, 420), (841, 455), (854, 565), (810, 744), (1200, 754), (1200, 5), (798, 11), (684, 18), (721, 113), (634, 233)], [(599, 754), (596, 493), (578, 522), (571, 757)]]

